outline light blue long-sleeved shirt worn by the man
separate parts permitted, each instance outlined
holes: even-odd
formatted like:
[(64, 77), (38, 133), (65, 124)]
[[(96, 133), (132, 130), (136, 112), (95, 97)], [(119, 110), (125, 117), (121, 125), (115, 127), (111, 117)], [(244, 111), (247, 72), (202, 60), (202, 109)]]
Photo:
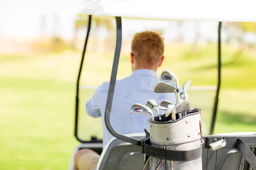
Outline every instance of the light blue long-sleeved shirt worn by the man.
[[(110, 117), (114, 130), (121, 134), (142, 133), (144, 129), (149, 130), (149, 114), (132, 114), (130, 112), (131, 105), (134, 103), (145, 105), (149, 99), (154, 99), (157, 104), (162, 100), (169, 100), (176, 104), (175, 93), (154, 93), (154, 85), (159, 81), (157, 72), (149, 69), (135, 70), (131, 76), (116, 80)], [(175, 83), (172, 85), (175, 85)], [(86, 111), (90, 116), (101, 116), (103, 149), (113, 138), (105, 125), (104, 119), (108, 88), (109, 82), (104, 82), (86, 103)], [(153, 113), (154, 116), (157, 116), (155, 111)], [(160, 113), (164, 114), (165, 111), (160, 111)]]

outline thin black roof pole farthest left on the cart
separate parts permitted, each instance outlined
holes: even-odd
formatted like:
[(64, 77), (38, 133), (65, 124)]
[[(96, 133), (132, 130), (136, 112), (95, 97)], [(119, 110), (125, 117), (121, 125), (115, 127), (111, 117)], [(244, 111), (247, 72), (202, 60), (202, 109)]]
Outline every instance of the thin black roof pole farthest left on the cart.
[(85, 42), (84, 42), (84, 50), (82, 53), (82, 58), (81, 58), (81, 63), (80, 63), (80, 68), (79, 68), (79, 73), (78, 73), (78, 77), (77, 77), (77, 82), (76, 82), (76, 112), (75, 112), (75, 137), (79, 142), (84, 143), (83, 140), (79, 139), (77, 131), (78, 131), (78, 112), (79, 112), (79, 81), (80, 81), (80, 77), (81, 77), (81, 71), (83, 68), (83, 63), (84, 63), (84, 54), (86, 51), (86, 46), (87, 46), (87, 42), (88, 42), (88, 38), (89, 38), (89, 34), (90, 34), (90, 28), (91, 28), (91, 19), (92, 16), (89, 15), (88, 18), (88, 28), (87, 28), (87, 34), (86, 34), (86, 38), (85, 38)]

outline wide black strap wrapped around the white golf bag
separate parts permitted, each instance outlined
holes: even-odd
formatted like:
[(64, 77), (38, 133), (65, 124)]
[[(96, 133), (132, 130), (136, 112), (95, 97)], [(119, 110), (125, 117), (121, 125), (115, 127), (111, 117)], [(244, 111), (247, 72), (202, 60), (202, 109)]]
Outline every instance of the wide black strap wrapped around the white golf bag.
[(148, 140), (143, 142), (142, 153), (148, 156), (152, 156), (154, 158), (170, 161), (191, 161), (201, 158), (202, 156), (202, 147), (198, 147), (194, 150), (166, 150), (147, 144)]

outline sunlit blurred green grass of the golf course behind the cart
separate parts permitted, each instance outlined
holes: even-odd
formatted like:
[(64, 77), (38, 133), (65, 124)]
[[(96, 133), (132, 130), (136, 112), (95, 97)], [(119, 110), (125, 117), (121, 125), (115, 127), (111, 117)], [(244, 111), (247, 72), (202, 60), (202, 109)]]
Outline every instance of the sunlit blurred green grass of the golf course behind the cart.
[[(166, 48), (158, 70), (173, 71), (182, 84), (216, 85), (216, 45), (198, 54), (186, 45)], [(256, 131), (256, 60), (251, 51), (233, 61), (235, 49), (223, 47), (222, 86), (215, 133)], [(78, 144), (73, 136), (76, 76), (80, 53), (0, 55), (0, 169), (63, 170)], [(232, 61), (232, 62), (230, 62)], [(81, 84), (109, 81), (113, 56), (88, 53)], [(117, 78), (129, 76), (128, 54), (121, 54)], [(99, 79), (100, 77), (100, 79)], [(87, 116), (84, 105), (93, 90), (81, 90), (79, 136), (102, 136), (100, 119)], [(209, 131), (215, 91), (190, 91), (192, 107), (202, 109), (203, 134)]]

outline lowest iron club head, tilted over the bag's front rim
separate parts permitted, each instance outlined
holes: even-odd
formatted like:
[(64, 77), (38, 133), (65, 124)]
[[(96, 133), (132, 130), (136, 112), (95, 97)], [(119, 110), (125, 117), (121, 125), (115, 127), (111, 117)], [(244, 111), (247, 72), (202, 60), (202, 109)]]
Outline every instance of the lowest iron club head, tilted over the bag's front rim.
[[(182, 102), (177, 104), (175, 107), (173, 107), (171, 111), (167, 111), (166, 117), (168, 117), (170, 114), (172, 114), (172, 120), (175, 120), (176, 119), (176, 113), (181, 113), (181, 112), (184, 112), (184, 111), (188, 111), (189, 109), (190, 109), (189, 101), (183, 100)], [(180, 116), (180, 118), (181, 118), (181, 116)]]

